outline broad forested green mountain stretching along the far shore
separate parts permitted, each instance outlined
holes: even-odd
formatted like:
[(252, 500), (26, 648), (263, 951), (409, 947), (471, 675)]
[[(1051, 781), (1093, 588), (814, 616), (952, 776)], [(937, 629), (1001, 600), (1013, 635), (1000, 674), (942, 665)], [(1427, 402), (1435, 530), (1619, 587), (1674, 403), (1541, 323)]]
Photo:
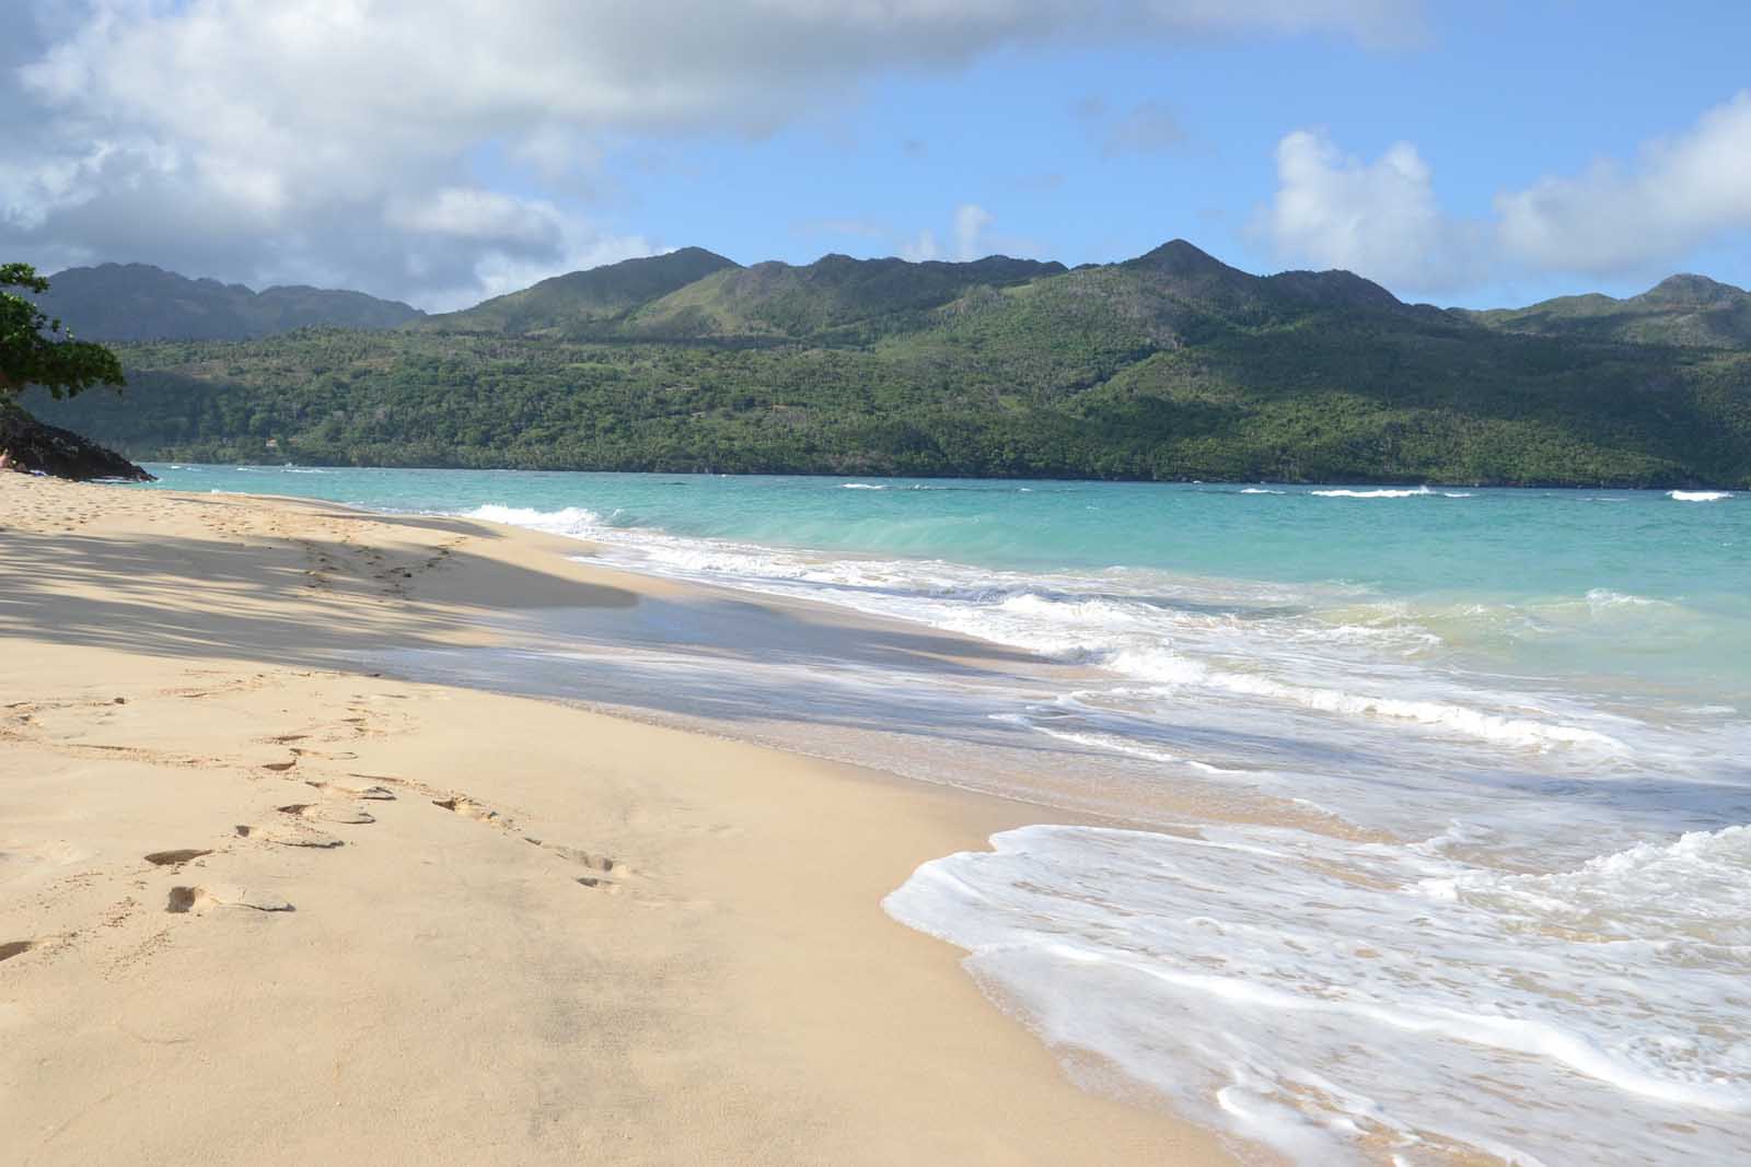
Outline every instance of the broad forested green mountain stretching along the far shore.
[(33, 408), (133, 458), (1751, 488), (1751, 348), (1508, 331), (1182, 240), (713, 261), (562, 276), (494, 329), (128, 345), (124, 401)]

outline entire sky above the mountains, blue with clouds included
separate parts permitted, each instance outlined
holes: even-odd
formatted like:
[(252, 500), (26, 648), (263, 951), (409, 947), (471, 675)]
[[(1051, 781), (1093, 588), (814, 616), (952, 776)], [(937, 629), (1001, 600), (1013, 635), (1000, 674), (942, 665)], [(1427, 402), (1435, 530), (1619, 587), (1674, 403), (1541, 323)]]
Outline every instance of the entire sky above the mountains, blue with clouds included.
[(1450, 304), (1751, 285), (1746, 3), (5, 2), (37, 38), (0, 61), (33, 115), (0, 247), (51, 269), (445, 308), (690, 243), (1077, 264), (1180, 236)]

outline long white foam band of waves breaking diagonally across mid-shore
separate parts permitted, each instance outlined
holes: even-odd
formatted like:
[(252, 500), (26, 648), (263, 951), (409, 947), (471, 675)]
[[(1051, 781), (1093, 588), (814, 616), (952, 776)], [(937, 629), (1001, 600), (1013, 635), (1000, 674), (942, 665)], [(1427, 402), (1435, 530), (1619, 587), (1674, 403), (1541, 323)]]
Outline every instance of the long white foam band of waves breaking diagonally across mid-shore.
[[(1276, 702), (1347, 719), (1418, 724), (1509, 749), (1632, 752), (1606, 728), (1553, 721), (1527, 710), (1525, 702), (1518, 707), (1504, 703), (1497, 693), (1453, 693), (1452, 686), (1434, 679), (1417, 679), (1415, 686), (1425, 691), (1415, 693), (1406, 691), (1406, 679), (1399, 675), (1389, 681), (1357, 675), (1350, 684), (1319, 684), (1303, 675), (1301, 649), (1306, 646), (1322, 653), (1350, 647), (1413, 656), (1439, 644), (1438, 635), (1403, 619), (1382, 626), (1327, 625), (1292, 614), (1245, 621), (1198, 593), (1189, 595), (1191, 604), (1184, 607), (1147, 602), (1145, 597), (1128, 595), (1122, 583), (1110, 576), (1096, 581), (989, 572), (935, 560), (823, 558), (721, 539), (613, 528), (585, 507), (543, 513), (483, 506), (469, 516), (602, 541), (630, 556), (623, 562), (644, 570), (828, 600), (1157, 684)], [(1226, 586), (1240, 590), (1243, 584)], [(1306, 595), (1304, 590), (1278, 586), (1245, 588), (1210, 598), (1231, 607), (1250, 602), (1275, 609), (1292, 607), (1296, 598)], [(1231, 660), (1243, 660), (1248, 667), (1238, 668)], [(1275, 675), (1273, 661), (1294, 667), (1294, 675)], [(1322, 656), (1313, 667), (1329, 670), (1333, 663), (1333, 658)], [(1383, 688), (1387, 684), (1390, 689)], [(1483, 707), (1480, 700), (1494, 707)]]

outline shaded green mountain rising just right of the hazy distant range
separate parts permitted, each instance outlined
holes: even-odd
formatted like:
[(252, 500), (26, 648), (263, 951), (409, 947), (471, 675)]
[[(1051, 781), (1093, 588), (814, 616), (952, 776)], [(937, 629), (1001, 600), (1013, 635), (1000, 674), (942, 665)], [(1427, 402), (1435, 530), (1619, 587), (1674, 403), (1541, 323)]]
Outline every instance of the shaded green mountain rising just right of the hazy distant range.
[(702, 247), (573, 271), (520, 292), (496, 296), (466, 311), (427, 317), (436, 332), (511, 332), (574, 336), (599, 331), (634, 308), (737, 264)]

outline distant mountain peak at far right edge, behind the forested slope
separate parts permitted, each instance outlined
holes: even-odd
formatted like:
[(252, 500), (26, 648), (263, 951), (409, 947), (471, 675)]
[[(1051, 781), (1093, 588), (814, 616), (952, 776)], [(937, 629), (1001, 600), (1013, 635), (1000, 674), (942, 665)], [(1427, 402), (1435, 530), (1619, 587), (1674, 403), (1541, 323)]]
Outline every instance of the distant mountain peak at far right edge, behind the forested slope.
[(1676, 275), (1628, 299), (1562, 296), (1530, 308), (1466, 313), (1504, 332), (1632, 345), (1751, 346), (1751, 292), (1700, 275)]

